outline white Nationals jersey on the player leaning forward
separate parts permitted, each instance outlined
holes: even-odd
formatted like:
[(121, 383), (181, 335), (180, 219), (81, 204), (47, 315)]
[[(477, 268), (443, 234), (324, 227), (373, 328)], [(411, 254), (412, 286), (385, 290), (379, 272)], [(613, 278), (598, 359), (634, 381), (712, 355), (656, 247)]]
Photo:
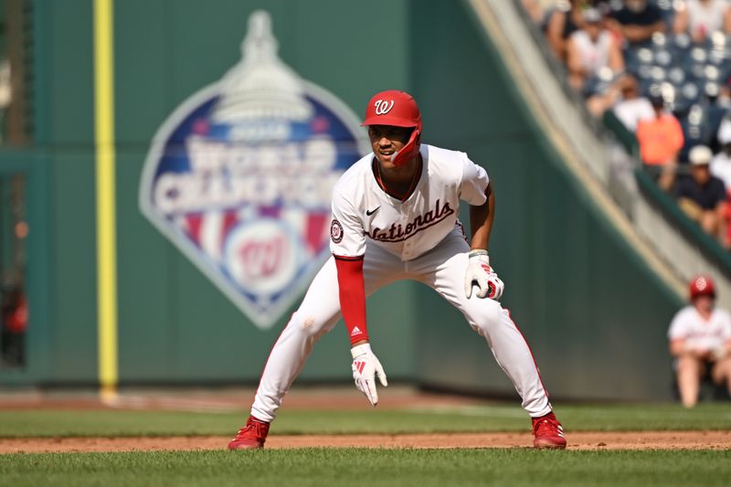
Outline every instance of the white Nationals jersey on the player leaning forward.
[(473, 206), (487, 200), (490, 179), (467, 154), (421, 144), (423, 164), (412, 193), (401, 201), (376, 181), (377, 161), (365, 155), (333, 190), (330, 249), (335, 256), (360, 257), (365, 242), (401, 260), (433, 249), (458, 225), (460, 199)]

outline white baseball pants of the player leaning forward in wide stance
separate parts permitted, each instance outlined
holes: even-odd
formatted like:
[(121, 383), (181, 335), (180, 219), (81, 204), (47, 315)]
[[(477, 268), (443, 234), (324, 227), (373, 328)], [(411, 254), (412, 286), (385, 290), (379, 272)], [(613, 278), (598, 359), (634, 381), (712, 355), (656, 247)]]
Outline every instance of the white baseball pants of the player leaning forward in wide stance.
[[(479, 299), (474, 294), (468, 300), (464, 295), (469, 251), (461, 228), (452, 230), (434, 249), (406, 262), (376, 245), (367, 245), (363, 264), (365, 295), (405, 279), (423, 282), (439, 292), (485, 338), (498, 365), (523, 398), (523, 408), (528, 414), (533, 418), (543, 416), (551, 411), (546, 389), (530, 348), (510, 314), (499, 302)], [(315, 276), (300, 308), (291, 315), (290, 323), (271, 349), (251, 407), (252, 416), (263, 421), (275, 418), (282, 398), (302, 371), (313, 345), (323, 333), (333, 329), (340, 317), (337, 270), (331, 257)]]

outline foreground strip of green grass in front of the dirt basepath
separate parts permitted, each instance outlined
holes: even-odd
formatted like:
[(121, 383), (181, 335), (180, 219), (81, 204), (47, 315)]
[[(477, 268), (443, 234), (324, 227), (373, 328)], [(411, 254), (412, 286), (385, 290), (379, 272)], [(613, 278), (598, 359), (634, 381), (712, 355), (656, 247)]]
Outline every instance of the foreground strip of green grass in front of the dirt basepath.
[(0, 456), (5, 485), (729, 485), (731, 451), (302, 449)]

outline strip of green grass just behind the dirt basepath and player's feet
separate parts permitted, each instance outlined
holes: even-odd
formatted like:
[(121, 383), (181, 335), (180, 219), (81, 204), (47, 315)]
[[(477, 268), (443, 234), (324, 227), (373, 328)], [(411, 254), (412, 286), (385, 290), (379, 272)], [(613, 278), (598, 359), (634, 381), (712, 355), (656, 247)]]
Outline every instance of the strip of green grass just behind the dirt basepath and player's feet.
[[(731, 404), (563, 406), (556, 414), (571, 431), (728, 429)], [(131, 410), (2, 410), (0, 438), (78, 436), (230, 435), (246, 414)], [(516, 406), (355, 411), (282, 409), (272, 434), (429, 433), (526, 431), (529, 420)]]

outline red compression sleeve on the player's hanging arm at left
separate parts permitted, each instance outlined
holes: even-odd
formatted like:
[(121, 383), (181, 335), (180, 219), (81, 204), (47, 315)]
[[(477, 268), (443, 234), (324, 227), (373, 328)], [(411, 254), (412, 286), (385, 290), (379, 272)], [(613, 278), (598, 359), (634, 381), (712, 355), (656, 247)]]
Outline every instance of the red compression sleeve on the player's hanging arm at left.
[(340, 309), (350, 343), (368, 340), (365, 327), (365, 283), (363, 281), (363, 257), (335, 256), (337, 284), (340, 288)]

